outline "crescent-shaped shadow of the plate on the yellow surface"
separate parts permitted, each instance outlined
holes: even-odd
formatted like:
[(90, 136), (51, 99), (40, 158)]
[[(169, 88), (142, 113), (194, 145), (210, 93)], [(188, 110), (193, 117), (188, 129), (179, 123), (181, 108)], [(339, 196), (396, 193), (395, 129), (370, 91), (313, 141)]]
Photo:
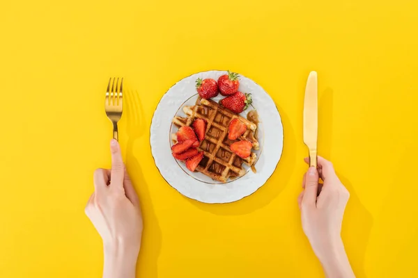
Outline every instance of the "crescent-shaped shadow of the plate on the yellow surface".
[[(277, 104), (276, 106), (284, 126), (284, 149), (279, 164), (267, 183), (256, 190), (255, 193), (229, 204), (204, 204), (194, 199), (186, 198), (189, 202), (202, 211), (208, 211), (217, 215), (243, 215), (263, 208), (263, 206), (269, 204), (272, 199), (281, 193), (295, 168), (295, 142), (297, 141), (289, 118)], [(263, 150), (263, 152), (267, 152), (267, 150)]]

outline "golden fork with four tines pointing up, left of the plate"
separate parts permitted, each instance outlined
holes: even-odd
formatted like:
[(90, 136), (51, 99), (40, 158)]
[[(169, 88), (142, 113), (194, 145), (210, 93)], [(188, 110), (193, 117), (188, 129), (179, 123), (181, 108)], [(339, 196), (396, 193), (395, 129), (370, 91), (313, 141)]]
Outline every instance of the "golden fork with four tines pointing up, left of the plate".
[[(115, 84), (116, 81), (116, 84)], [(111, 88), (110, 88), (111, 84)], [(119, 89), (119, 90), (118, 90)], [(119, 78), (109, 79), (109, 84), (106, 90), (106, 99), (104, 101), (104, 111), (114, 126), (114, 139), (119, 140), (118, 136), (118, 122), (122, 117), (122, 104), (123, 104), (123, 78), (119, 83)]]

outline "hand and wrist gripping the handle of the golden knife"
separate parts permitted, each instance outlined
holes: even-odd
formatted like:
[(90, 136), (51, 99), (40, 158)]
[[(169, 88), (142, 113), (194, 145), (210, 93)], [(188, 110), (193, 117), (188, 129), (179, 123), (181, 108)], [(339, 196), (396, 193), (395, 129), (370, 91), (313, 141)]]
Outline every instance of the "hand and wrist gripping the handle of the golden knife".
[[(305, 160), (307, 162), (307, 160)], [(319, 184), (319, 177), (323, 184)], [(302, 227), (327, 277), (355, 277), (341, 240), (341, 224), (350, 193), (330, 161), (318, 157), (318, 170), (304, 174), (298, 203)]]

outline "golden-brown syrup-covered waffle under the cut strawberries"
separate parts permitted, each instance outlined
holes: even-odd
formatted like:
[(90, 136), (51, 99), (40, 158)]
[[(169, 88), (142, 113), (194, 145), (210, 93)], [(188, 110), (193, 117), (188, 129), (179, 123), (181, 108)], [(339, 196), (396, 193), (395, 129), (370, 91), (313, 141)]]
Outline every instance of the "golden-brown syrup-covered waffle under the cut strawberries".
[[(254, 149), (258, 149), (258, 140), (254, 136), (257, 129), (256, 124), (208, 99), (201, 99), (201, 105), (185, 106), (183, 111), (187, 117), (176, 116), (173, 119), (173, 124), (178, 127), (190, 126), (196, 118), (206, 120), (208, 123), (205, 139), (198, 148), (204, 156), (196, 167), (196, 171), (206, 174), (216, 181), (226, 182), (229, 178), (241, 177), (245, 174), (242, 163), (249, 166), (254, 165), (256, 161), (254, 152), (251, 152), (247, 158), (240, 158), (231, 152), (229, 146), (238, 140), (248, 140)], [(247, 131), (238, 140), (229, 140), (227, 136), (229, 122), (236, 118), (247, 126)], [(176, 142), (176, 134), (172, 134), (172, 136)]]

